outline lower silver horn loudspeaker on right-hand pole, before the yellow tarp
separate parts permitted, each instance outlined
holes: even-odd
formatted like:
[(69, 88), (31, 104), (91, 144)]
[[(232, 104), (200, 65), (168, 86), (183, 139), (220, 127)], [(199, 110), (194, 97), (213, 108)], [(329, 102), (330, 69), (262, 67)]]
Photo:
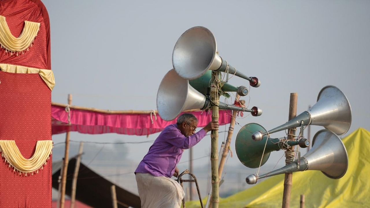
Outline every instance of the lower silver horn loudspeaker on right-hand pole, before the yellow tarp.
[(312, 140), (312, 148), (299, 160), (263, 175), (249, 175), (245, 180), (248, 184), (255, 184), (258, 179), (273, 175), (318, 170), (332, 179), (342, 178), (348, 168), (348, 155), (342, 140), (330, 130), (318, 131)]

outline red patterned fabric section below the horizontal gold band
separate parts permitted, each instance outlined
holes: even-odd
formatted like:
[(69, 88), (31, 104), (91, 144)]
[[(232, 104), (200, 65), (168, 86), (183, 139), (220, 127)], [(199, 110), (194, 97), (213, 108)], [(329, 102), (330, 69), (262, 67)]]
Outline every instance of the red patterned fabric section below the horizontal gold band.
[[(38, 74), (0, 71), (0, 140), (15, 140), (24, 158), (51, 139), (51, 93)], [(0, 208), (51, 207), (51, 160), (38, 174), (19, 175), (0, 161)]]

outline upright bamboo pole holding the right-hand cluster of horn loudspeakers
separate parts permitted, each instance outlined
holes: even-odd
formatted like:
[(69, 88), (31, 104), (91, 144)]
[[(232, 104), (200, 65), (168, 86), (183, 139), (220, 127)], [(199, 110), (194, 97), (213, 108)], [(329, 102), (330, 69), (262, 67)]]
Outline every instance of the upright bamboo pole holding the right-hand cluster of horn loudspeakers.
[[(290, 102), (289, 102), (289, 120), (296, 117), (297, 115), (297, 93), (290, 93)], [(294, 140), (296, 135), (296, 130), (294, 128), (290, 128), (288, 130), (288, 140)], [(285, 151), (285, 164), (289, 164), (293, 161), (293, 158), (289, 156), (290, 154), (294, 155), (294, 147), (289, 147)], [(284, 178), (284, 192), (283, 192), (283, 204), (282, 208), (289, 208), (290, 206), (290, 192), (292, 191), (292, 173), (286, 173)]]

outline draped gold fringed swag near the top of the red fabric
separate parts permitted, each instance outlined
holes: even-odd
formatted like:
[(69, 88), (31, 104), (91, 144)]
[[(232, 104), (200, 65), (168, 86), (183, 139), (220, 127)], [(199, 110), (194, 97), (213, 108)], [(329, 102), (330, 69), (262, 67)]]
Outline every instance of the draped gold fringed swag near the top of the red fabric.
[[(0, 44), (11, 54), (28, 50), (40, 29), (40, 23), (24, 21), (24, 27), (19, 37), (11, 34), (4, 16), (0, 15)], [(18, 54), (18, 53), (17, 53)]]

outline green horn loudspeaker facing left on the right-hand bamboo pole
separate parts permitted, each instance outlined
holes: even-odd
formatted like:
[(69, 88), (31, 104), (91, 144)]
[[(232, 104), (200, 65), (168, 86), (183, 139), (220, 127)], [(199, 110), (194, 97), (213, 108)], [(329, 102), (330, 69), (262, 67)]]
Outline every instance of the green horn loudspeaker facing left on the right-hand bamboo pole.
[[(306, 138), (301, 138), (299, 141), (281, 141), (277, 138), (269, 138), (269, 140), (267, 140), (267, 135), (265, 135), (261, 141), (253, 141), (252, 134), (256, 131), (264, 132), (266, 130), (259, 124), (249, 123), (243, 126), (236, 136), (236, 155), (238, 155), (240, 162), (248, 168), (258, 168), (261, 162), (261, 157), (261, 166), (265, 164), (270, 157), (270, 152), (272, 151), (286, 149), (294, 145), (299, 145), (302, 148), (306, 148), (310, 145), (310, 141)], [(263, 153), (264, 148), (265, 152)]]

